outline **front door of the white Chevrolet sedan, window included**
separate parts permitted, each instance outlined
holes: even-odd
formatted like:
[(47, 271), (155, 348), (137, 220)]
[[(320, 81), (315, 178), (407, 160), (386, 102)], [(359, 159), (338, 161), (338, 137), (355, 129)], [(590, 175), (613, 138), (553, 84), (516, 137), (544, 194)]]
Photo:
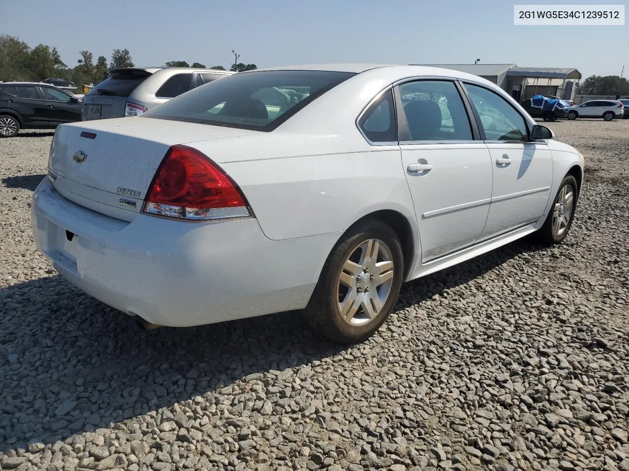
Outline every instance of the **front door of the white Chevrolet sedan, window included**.
[(542, 217), (550, 197), (552, 154), (544, 142), (530, 142), (530, 129), (515, 107), (495, 92), (465, 84), (491, 154), (493, 191), (482, 232), (498, 236)]

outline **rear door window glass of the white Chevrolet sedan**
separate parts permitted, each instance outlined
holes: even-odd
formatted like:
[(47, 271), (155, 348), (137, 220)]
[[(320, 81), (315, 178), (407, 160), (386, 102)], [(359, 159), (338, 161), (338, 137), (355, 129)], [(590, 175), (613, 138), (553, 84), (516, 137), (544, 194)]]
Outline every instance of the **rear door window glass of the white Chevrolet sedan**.
[(399, 86), (408, 136), (401, 141), (471, 141), (472, 128), (454, 82), (417, 80)]

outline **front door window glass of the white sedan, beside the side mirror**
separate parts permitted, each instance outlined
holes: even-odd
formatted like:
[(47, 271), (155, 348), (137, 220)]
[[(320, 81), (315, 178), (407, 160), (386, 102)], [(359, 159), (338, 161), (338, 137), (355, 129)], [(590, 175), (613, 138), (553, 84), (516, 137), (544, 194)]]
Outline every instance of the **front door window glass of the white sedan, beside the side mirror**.
[(481, 118), (487, 141), (527, 141), (526, 121), (509, 102), (498, 94), (465, 84), (465, 89)]

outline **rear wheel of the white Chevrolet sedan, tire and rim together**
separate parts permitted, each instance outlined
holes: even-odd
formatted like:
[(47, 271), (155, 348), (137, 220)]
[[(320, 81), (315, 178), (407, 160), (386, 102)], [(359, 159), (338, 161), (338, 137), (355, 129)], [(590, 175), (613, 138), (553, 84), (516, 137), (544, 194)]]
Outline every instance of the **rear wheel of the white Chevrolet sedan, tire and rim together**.
[(380, 220), (364, 220), (328, 256), (303, 317), (331, 340), (362, 342), (391, 314), (403, 278), (404, 255), (396, 232)]

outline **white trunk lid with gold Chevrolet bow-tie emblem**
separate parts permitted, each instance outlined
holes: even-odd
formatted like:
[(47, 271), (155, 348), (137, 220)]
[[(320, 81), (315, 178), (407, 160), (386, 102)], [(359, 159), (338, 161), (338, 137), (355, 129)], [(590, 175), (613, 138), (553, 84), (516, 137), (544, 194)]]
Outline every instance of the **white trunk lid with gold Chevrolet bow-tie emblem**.
[(50, 148), (48, 176), (69, 200), (130, 221), (170, 146), (253, 133), (143, 117), (64, 124)]

